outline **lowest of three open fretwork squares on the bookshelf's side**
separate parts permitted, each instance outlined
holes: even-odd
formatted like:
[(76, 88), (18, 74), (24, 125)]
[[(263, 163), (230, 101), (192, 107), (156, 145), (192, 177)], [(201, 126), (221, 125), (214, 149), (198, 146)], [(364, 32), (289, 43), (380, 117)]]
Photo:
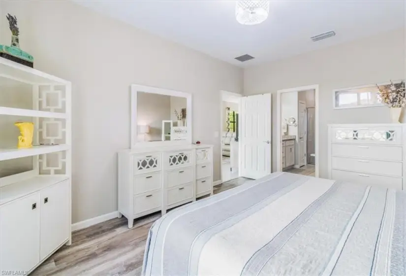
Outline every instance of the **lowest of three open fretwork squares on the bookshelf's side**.
[(66, 168), (65, 151), (41, 154), (38, 159), (40, 174), (63, 174)]

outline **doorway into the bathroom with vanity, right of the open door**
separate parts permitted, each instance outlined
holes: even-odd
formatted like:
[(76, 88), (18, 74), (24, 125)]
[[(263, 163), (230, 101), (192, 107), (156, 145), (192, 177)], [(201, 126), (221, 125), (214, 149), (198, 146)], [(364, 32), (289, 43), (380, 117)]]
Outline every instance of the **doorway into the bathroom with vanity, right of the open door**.
[(277, 94), (277, 171), (319, 175), (318, 85)]

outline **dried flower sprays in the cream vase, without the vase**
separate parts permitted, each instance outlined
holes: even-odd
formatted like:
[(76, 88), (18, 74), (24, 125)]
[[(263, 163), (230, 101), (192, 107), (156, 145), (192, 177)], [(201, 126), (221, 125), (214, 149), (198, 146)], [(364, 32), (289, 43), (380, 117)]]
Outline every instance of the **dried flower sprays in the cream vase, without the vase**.
[(393, 83), (391, 81), (388, 85), (376, 86), (379, 89), (379, 95), (383, 104), (389, 107), (406, 106), (405, 81), (400, 83)]

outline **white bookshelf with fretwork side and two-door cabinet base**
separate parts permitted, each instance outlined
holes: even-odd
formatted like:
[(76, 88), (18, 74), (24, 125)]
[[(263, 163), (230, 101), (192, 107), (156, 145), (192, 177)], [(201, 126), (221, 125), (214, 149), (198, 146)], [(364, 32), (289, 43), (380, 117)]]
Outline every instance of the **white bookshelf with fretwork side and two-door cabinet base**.
[[(31, 108), (27, 98), (18, 103), (19, 87), (31, 92)], [(71, 83), (0, 58), (0, 93), (13, 99), (12, 104), (0, 102), (0, 132), (6, 134), (0, 138), (8, 139), (0, 143), (0, 162), (21, 171), (23, 162), (17, 158), (32, 159), (32, 170), (0, 178), (0, 271), (30, 273), (71, 243)], [(34, 146), (18, 149), (14, 122), (26, 120), (34, 124)], [(25, 245), (24, 254), (30, 258), (21, 258), (18, 244)]]

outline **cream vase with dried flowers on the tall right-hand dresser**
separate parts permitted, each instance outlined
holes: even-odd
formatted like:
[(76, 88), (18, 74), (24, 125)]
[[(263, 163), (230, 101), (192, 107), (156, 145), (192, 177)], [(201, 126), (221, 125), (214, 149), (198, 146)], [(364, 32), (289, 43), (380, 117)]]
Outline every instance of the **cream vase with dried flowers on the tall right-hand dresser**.
[(390, 107), (390, 116), (392, 123), (401, 123), (400, 116), (402, 108), (406, 106), (405, 81), (388, 85), (376, 85), (379, 89), (379, 95), (382, 103)]

